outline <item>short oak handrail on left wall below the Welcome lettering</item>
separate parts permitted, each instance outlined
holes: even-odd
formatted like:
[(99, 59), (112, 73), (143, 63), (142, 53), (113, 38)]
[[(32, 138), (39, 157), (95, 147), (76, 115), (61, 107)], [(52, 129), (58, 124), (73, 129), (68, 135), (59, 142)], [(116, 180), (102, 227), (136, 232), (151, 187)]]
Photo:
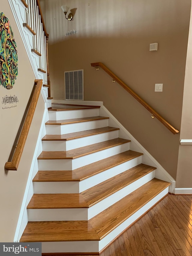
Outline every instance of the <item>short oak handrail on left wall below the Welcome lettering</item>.
[(17, 170), (19, 166), (19, 162), (21, 160), (22, 152), (27, 140), (27, 135), (29, 133), (29, 128), (32, 123), (33, 115), (35, 113), (35, 108), (38, 102), (39, 94), (41, 92), (41, 87), (43, 84), (43, 80), (35, 80), (35, 90), (31, 99), (31, 103), (29, 105), (29, 110), (13, 155), (13, 159), (11, 162), (6, 162), (4, 168), (6, 170)]

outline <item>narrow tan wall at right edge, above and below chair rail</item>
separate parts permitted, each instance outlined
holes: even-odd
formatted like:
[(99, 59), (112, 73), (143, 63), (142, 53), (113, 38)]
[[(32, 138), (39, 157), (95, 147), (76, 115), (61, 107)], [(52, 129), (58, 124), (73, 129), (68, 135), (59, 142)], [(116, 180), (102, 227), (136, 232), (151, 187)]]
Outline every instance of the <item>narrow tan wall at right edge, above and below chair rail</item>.
[[(183, 108), (180, 140), (192, 140), (192, 11), (184, 80)], [(179, 146), (177, 188), (192, 188), (192, 145)]]

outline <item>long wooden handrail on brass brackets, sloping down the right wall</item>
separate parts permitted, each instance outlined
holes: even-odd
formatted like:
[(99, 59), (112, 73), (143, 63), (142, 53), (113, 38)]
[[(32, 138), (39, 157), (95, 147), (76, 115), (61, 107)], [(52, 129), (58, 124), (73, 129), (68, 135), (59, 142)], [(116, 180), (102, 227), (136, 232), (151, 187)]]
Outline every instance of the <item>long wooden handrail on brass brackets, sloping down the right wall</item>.
[(126, 85), (119, 77), (117, 77), (109, 68), (107, 68), (101, 62), (91, 63), (92, 67), (101, 67), (107, 74), (109, 74), (117, 83), (119, 83), (126, 91), (128, 91), (140, 104), (142, 104), (153, 116), (155, 116), (167, 129), (169, 129), (173, 134), (179, 133), (170, 123), (168, 123), (160, 114), (158, 114), (149, 104), (147, 104), (137, 93), (135, 93), (128, 85)]

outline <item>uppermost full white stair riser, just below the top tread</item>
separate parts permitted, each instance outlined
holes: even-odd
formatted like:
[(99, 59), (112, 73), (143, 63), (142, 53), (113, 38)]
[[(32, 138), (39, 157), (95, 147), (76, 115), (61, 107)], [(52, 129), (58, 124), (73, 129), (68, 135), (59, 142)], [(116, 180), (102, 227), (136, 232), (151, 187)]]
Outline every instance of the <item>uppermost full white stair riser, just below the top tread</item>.
[(49, 111), (49, 120), (52, 121), (91, 116), (99, 116), (99, 109)]

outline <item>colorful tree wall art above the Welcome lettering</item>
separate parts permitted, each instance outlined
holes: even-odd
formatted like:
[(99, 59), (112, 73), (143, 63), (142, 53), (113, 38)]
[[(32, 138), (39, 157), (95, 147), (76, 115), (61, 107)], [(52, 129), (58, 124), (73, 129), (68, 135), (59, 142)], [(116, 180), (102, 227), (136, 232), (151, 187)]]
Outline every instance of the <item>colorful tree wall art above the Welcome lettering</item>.
[(0, 13), (0, 85), (12, 89), (18, 75), (18, 56), (9, 20)]

